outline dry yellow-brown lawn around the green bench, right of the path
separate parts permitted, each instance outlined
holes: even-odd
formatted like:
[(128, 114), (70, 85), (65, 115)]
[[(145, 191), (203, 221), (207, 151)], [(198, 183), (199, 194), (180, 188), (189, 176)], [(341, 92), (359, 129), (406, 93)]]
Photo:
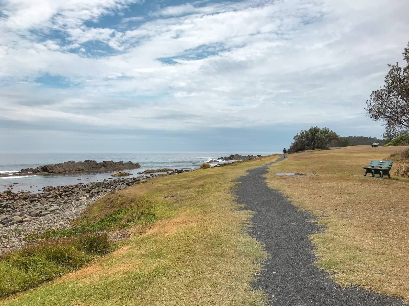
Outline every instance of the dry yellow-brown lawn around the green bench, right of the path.
[[(371, 159), (384, 160), (398, 149), (352, 146), (294, 154), (273, 164), (267, 179), (328, 226), (310, 238), (318, 266), (334, 273), (335, 281), (409, 299), (409, 180), (393, 177), (393, 171), (392, 180), (355, 176)], [(317, 175), (295, 180), (276, 172)]]

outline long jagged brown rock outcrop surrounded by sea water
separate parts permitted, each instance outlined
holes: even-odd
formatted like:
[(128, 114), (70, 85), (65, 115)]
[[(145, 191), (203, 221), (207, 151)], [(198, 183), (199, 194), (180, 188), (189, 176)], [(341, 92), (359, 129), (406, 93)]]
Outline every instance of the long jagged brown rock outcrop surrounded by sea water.
[(97, 162), (95, 160), (85, 160), (83, 162), (62, 162), (60, 164), (49, 164), (44, 166), (39, 166), (35, 169), (27, 168), (21, 169), (16, 174), (21, 175), (26, 173), (36, 173), (36, 174), (56, 174), (56, 173), (72, 173), (72, 172), (83, 172), (83, 171), (112, 171), (112, 170), (124, 170), (124, 169), (137, 169), (141, 166), (133, 162), (114, 162), (103, 161)]

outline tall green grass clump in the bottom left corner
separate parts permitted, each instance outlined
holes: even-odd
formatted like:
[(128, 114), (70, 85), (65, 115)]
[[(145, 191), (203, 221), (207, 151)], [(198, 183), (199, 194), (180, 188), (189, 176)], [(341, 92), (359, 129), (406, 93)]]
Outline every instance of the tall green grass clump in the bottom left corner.
[(0, 297), (39, 286), (112, 251), (106, 234), (45, 241), (0, 257)]

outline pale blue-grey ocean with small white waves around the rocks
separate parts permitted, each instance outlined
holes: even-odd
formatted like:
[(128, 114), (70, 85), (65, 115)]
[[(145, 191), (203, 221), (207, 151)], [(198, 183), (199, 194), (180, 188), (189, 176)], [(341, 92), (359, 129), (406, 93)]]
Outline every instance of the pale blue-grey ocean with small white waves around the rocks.
[[(215, 160), (221, 156), (230, 154), (240, 155), (268, 155), (277, 152), (188, 152), (188, 153), (0, 153), (0, 173), (15, 173), (24, 168), (36, 168), (46, 164), (58, 164), (74, 160), (113, 160), (114, 162), (139, 162), (142, 168), (127, 170), (131, 176), (146, 169), (197, 169), (200, 164), (209, 160)], [(15, 177), (0, 177), (0, 191), (13, 185), (14, 191), (31, 191), (32, 193), (42, 191), (46, 186), (73, 185), (79, 182), (98, 182), (108, 179), (115, 171), (72, 173), (54, 175), (22, 175)]]

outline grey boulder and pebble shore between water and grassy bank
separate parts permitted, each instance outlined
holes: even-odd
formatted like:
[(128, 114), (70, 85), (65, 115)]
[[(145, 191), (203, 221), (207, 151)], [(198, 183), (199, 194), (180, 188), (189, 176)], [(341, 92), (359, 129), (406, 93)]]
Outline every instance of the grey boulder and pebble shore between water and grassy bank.
[(154, 175), (104, 180), (87, 184), (44, 187), (42, 193), (29, 191), (0, 193), (0, 254), (21, 248), (25, 237), (46, 229), (70, 227), (70, 221), (101, 197)]

